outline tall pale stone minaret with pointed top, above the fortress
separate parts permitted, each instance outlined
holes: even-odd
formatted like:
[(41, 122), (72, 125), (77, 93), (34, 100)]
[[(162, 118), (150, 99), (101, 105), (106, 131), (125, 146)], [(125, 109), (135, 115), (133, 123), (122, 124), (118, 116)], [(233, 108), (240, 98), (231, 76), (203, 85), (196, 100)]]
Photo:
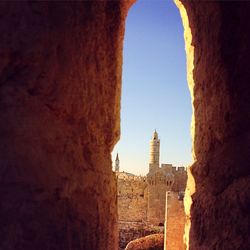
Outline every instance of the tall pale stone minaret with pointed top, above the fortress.
[(150, 162), (149, 172), (157, 170), (160, 167), (160, 140), (156, 130), (153, 133), (153, 137), (150, 141)]

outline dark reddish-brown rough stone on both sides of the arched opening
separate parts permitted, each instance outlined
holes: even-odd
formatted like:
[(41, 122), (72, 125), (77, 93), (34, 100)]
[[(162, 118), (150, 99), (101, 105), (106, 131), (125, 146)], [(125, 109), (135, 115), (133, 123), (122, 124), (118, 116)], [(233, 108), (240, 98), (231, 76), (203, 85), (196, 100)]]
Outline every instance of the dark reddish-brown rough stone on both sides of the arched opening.
[[(0, 3), (0, 249), (117, 248), (110, 152), (131, 2)], [(195, 47), (190, 249), (248, 249), (250, 4), (182, 2)]]

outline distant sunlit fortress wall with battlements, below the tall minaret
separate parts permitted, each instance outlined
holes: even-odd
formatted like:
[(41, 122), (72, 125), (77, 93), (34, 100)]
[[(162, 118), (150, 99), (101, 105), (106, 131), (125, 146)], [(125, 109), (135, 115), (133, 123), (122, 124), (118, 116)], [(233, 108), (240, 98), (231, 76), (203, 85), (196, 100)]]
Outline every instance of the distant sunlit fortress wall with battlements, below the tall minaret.
[(187, 173), (185, 168), (164, 165), (159, 172), (147, 177), (116, 172), (118, 219), (147, 221), (152, 225), (164, 224), (166, 191), (184, 193)]

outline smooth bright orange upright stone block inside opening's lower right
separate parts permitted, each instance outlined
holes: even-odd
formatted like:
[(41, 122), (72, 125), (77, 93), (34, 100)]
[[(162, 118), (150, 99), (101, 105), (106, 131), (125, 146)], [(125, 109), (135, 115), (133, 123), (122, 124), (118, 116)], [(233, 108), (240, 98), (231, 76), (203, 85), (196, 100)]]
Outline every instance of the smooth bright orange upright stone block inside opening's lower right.
[(178, 200), (178, 193), (175, 192), (168, 192), (166, 200), (166, 249), (184, 250), (185, 213), (183, 201)]

